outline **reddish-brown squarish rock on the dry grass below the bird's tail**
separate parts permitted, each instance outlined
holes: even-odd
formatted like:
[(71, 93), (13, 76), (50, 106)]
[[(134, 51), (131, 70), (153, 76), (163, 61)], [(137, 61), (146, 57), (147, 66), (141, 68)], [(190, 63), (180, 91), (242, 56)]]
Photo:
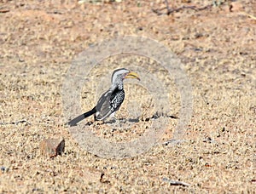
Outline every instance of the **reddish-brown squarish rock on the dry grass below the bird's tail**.
[(61, 153), (64, 151), (65, 140), (63, 138), (45, 139), (41, 141), (39, 148), (42, 155), (46, 157), (56, 157), (57, 155), (61, 155)]

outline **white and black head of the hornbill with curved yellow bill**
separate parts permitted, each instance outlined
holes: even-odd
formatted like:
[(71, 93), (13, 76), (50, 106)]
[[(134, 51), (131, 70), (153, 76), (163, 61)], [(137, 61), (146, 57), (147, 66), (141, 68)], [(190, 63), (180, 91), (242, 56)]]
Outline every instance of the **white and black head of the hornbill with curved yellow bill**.
[(112, 83), (123, 83), (123, 80), (126, 78), (137, 78), (138, 80), (140, 80), (136, 72), (121, 68), (113, 71)]

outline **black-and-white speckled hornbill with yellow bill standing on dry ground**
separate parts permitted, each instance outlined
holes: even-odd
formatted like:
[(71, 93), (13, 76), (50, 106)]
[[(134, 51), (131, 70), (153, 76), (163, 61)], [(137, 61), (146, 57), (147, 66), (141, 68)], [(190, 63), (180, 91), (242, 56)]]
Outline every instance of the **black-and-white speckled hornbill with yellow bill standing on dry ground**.
[(105, 120), (107, 117), (114, 117), (114, 113), (119, 110), (125, 100), (124, 79), (125, 78), (137, 78), (140, 80), (136, 72), (129, 71), (125, 68), (117, 69), (112, 74), (112, 85), (107, 92), (102, 94), (100, 100), (98, 100), (96, 106), (90, 111), (84, 112), (79, 117), (73, 118), (68, 122), (69, 126), (75, 126), (86, 117), (90, 117), (94, 114), (96, 121)]

